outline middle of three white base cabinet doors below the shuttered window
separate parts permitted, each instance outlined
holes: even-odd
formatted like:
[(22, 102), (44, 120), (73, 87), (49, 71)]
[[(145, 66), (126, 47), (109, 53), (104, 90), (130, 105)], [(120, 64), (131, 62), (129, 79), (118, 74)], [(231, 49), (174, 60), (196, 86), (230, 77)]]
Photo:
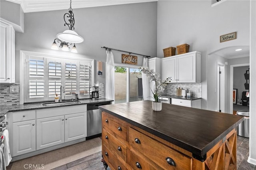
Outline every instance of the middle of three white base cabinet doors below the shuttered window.
[(64, 116), (36, 120), (36, 150), (64, 143)]

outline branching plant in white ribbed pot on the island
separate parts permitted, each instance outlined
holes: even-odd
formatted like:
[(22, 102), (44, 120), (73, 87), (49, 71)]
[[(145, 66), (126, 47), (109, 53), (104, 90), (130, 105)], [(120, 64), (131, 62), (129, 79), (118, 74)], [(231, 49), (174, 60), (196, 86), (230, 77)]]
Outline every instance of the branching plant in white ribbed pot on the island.
[(154, 98), (154, 101), (152, 102), (152, 109), (154, 111), (161, 111), (162, 102), (159, 101), (158, 93), (164, 91), (164, 88), (166, 87), (167, 83), (171, 82), (171, 77), (168, 77), (163, 82), (161, 82), (160, 74), (156, 73), (154, 69), (149, 70), (148, 67), (140, 67), (139, 69), (142, 71), (142, 73), (146, 74), (146, 76), (149, 77), (151, 81), (155, 82), (154, 89), (150, 89)]

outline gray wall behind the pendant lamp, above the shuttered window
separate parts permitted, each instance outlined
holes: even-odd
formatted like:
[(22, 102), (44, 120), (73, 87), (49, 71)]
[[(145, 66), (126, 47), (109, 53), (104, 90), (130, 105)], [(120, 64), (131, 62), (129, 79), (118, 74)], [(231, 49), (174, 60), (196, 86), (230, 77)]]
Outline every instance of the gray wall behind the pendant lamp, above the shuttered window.
[[(50, 49), (56, 35), (68, 29), (63, 19), (66, 12), (25, 13), (24, 33), (16, 32), (16, 82), (20, 81), (20, 50), (95, 59), (95, 73), (97, 61), (103, 61), (103, 75), (95, 75), (95, 83), (105, 83), (103, 46), (156, 56), (157, 2), (73, 9), (75, 31), (84, 38), (76, 44), (77, 54)], [(114, 62), (121, 63), (121, 53), (112, 52)], [(142, 60), (138, 55), (138, 65)]]

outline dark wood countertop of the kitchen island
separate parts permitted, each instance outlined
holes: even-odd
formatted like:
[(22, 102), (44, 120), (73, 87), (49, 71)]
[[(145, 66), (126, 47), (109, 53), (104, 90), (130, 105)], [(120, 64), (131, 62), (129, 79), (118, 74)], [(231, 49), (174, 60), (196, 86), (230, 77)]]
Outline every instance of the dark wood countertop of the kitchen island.
[(136, 101), (99, 107), (102, 111), (171, 142), (204, 161), (208, 152), (236, 128), (244, 117), (162, 103), (152, 110), (152, 101)]

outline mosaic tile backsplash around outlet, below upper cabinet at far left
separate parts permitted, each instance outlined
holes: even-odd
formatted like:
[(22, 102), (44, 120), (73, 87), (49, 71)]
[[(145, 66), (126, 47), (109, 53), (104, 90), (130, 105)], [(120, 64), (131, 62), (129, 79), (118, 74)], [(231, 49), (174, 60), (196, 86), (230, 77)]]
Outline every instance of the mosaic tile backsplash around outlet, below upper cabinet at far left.
[[(18, 93), (10, 93), (10, 87), (18, 87)], [(0, 106), (20, 104), (20, 84), (0, 84)]]

